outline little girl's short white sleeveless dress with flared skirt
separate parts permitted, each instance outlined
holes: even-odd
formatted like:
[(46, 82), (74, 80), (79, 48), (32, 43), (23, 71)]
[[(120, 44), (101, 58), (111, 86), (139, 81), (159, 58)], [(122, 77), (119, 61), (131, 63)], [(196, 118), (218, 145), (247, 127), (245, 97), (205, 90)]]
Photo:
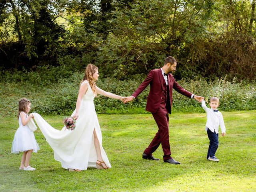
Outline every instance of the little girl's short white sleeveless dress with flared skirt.
[[(27, 119), (27, 114), (25, 112), (21, 112), (20, 115), (22, 113), (25, 114), (25, 118)], [(19, 116), (19, 128), (17, 129), (12, 142), (12, 153), (19, 153), (27, 150), (37, 152), (39, 149), (40, 148), (36, 142), (33, 131), (30, 130), (28, 124), (25, 126), (22, 125), (21, 118)]]

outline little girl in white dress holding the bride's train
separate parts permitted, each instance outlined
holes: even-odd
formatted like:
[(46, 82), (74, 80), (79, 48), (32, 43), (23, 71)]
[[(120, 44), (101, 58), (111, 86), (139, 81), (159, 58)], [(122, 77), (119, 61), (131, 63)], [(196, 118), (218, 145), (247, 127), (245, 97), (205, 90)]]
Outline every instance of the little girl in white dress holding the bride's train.
[(26, 171), (36, 170), (29, 166), (29, 160), (32, 152), (37, 152), (37, 150), (39, 150), (34, 133), (28, 127), (28, 122), (33, 118), (32, 114), (28, 116), (30, 105), (31, 102), (26, 98), (22, 98), (19, 101), (19, 128), (16, 131), (12, 142), (12, 153), (23, 152), (20, 162), (20, 170)]

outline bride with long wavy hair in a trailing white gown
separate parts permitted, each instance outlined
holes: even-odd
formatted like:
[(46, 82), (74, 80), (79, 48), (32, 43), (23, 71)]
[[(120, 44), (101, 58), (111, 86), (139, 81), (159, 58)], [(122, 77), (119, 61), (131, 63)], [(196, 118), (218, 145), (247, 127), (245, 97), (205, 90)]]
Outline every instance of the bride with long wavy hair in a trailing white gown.
[(54, 159), (70, 171), (111, 168), (108, 157), (102, 147), (102, 134), (94, 107), (97, 94), (124, 101), (125, 97), (106, 92), (96, 86), (98, 68), (88, 64), (80, 84), (76, 109), (72, 116), (76, 118), (76, 128), (56, 130), (39, 114), (32, 113), (38, 127), (54, 151)]

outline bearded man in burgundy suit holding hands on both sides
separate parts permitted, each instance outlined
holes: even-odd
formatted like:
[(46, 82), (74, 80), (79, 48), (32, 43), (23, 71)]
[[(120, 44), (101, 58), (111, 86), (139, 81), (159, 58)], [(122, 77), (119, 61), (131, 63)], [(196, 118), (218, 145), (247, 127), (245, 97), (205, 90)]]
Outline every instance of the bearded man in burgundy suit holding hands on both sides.
[(156, 124), (158, 125), (158, 132), (154, 136), (152, 142), (144, 150), (142, 158), (150, 160), (160, 160), (154, 158), (152, 153), (161, 144), (164, 151), (164, 162), (170, 164), (180, 164), (171, 157), (170, 143), (169, 143), (169, 115), (172, 110), (172, 89), (175, 89), (180, 94), (189, 98), (194, 98), (198, 102), (203, 99), (201, 96), (194, 95), (184, 88), (182, 88), (175, 80), (170, 72), (176, 70), (177, 61), (173, 57), (167, 57), (164, 60), (164, 66), (160, 69), (151, 70), (146, 79), (140, 84), (137, 90), (126, 98), (124, 102), (134, 100), (147, 86), (150, 84), (150, 92), (148, 94), (148, 101), (146, 110), (151, 112)]

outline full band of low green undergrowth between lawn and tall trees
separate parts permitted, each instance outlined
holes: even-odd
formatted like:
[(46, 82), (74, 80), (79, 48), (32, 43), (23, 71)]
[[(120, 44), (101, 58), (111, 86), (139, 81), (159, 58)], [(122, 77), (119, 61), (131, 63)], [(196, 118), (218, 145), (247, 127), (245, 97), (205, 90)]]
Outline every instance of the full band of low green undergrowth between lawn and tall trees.
[[(75, 109), (78, 88), (82, 73), (61, 72), (42, 69), (37, 72), (7, 72), (0, 77), (0, 115), (16, 115), (18, 100), (26, 97), (32, 102), (33, 112), (40, 114), (71, 114)], [(62, 76), (62, 74), (64, 74)], [(144, 77), (134, 76), (126, 81), (99, 78), (98, 87), (121, 96), (130, 96), (140, 85)], [(256, 109), (256, 86), (253, 82), (232, 82), (225, 78), (216, 78), (214, 81), (180, 80), (178, 83), (186, 90), (204, 96), (220, 98), (220, 110), (253, 110)], [(149, 87), (136, 100), (122, 104), (119, 100), (98, 95), (94, 99), (97, 113), (145, 113)], [(189, 99), (175, 90), (173, 91), (173, 111), (203, 112), (200, 103)]]

